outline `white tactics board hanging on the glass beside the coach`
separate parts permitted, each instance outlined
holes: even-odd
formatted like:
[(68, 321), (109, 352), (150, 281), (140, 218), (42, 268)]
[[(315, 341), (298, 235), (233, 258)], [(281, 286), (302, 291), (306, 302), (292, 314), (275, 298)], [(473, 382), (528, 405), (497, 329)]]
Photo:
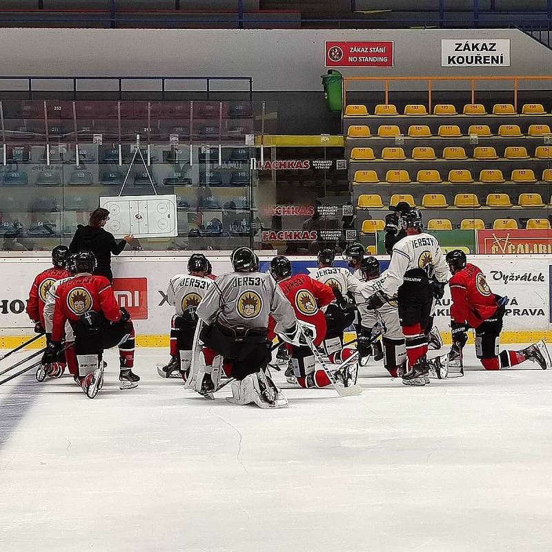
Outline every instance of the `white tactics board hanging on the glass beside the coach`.
[(109, 211), (106, 230), (117, 237), (176, 237), (176, 195), (127, 195), (100, 197), (99, 205)]

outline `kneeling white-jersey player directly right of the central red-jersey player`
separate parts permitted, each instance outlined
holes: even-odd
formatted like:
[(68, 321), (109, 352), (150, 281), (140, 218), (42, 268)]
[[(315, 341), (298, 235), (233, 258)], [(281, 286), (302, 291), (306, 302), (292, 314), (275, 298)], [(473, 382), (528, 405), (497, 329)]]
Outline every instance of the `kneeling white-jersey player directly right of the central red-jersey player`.
[(353, 294), (360, 285), (351, 270), (333, 266), (334, 259), (335, 251), (333, 249), (320, 251), (318, 253), (318, 270), (312, 274), (314, 279), (333, 288), (336, 297), (334, 302), (322, 309), (326, 317), (327, 328), (323, 344), (328, 356), (343, 348), (343, 333), (355, 321), (355, 311), (349, 307), (353, 306)]

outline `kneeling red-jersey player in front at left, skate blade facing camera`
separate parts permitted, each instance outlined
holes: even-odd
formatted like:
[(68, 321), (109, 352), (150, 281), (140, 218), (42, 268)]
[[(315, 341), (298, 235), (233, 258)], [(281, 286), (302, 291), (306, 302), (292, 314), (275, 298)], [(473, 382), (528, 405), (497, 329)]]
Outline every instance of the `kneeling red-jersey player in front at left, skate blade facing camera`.
[(90, 251), (71, 255), (69, 269), (75, 277), (56, 290), (52, 340), (42, 358), (43, 364), (55, 361), (69, 321), (75, 342), (66, 343), (67, 366), (90, 399), (103, 386), (102, 355), (106, 348), (119, 346), (121, 389), (134, 388), (140, 380), (132, 373), (135, 336), (130, 315), (117, 305), (109, 280), (92, 276), (95, 268), (96, 257)]

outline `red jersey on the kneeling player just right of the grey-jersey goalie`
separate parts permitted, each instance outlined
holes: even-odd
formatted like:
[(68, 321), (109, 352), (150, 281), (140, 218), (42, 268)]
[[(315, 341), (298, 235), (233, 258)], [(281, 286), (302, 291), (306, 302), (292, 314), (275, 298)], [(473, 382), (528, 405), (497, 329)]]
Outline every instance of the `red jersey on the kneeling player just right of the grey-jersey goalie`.
[[(278, 286), (293, 306), (297, 319), (316, 326), (315, 345), (321, 344), (326, 337), (326, 317), (320, 309), (335, 300), (332, 288), (306, 274), (290, 276), (278, 282)], [(268, 337), (274, 337), (274, 326), (270, 317)]]

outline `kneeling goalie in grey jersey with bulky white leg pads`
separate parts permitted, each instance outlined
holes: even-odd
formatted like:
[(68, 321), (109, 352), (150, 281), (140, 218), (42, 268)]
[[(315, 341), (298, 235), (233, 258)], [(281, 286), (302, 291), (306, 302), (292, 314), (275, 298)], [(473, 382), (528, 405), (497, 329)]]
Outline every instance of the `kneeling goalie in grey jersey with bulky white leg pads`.
[(196, 314), (206, 326), (199, 331), (202, 346), (195, 348), (192, 373), (195, 390), (202, 395), (216, 391), (223, 365), (234, 378), (233, 396), (228, 402), (261, 408), (288, 406), (284, 393), (268, 370), (268, 317), (277, 322), (276, 331), (299, 343), (300, 329), (295, 313), (282, 290), (269, 274), (259, 273), (259, 259), (248, 247), (235, 249), (230, 258), (234, 272), (213, 282)]

